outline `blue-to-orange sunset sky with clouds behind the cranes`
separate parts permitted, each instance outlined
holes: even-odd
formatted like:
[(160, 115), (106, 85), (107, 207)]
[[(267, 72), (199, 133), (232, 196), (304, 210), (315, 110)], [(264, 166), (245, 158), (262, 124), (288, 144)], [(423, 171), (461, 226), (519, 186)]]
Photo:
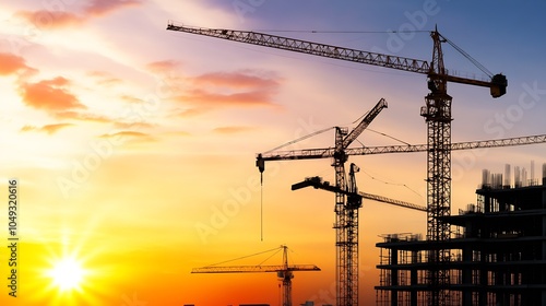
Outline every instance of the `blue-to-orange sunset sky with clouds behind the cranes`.
[[(290, 191), (308, 176), (334, 181), (331, 161), (268, 163), (261, 191), (256, 153), (352, 128), (381, 97), (389, 107), (355, 145), (426, 143), (426, 75), (166, 31), (169, 21), (428, 61), (438, 26), (509, 82), (497, 99), (449, 85), (461, 142), (546, 133), (545, 13), (544, 1), (2, 1), (0, 238), (10, 245), (8, 185), (17, 178), (20, 240), (17, 297), (0, 249), (0, 305), (278, 305), (274, 273), (190, 271), (281, 245), (292, 263), (322, 269), (296, 274), (294, 304), (334, 303), (334, 196)], [(482, 75), (443, 51), (448, 69)], [(333, 142), (332, 130), (285, 149)], [(452, 213), (475, 202), (482, 169), (530, 172), (534, 161), (538, 177), (544, 152), (453, 152)], [(361, 191), (426, 204), (424, 153), (349, 162)], [(361, 305), (375, 302), (380, 235), (425, 232), (424, 213), (364, 202)], [(72, 285), (62, 268), (79, 275)]]

